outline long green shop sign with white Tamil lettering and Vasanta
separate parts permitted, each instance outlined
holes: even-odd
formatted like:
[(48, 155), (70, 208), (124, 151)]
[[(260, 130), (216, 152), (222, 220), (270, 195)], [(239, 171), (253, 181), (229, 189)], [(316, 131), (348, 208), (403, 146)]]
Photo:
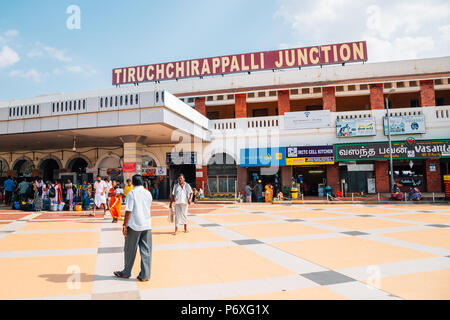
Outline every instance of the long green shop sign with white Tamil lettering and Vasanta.
[[(389, 143), (349, 143), (335, 145), (336, 161), (388, 160)], [(428, 159), (450, 157), (450, 140), (416, 141), (408, 145), (406, 141), (392, 142), (393, 159)]]

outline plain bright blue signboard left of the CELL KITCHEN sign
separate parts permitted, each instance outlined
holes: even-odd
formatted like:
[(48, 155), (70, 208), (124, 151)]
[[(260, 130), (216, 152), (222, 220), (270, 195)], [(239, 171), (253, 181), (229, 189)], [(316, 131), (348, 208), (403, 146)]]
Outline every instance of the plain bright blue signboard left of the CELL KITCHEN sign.
[(271, 167), (286, 165), (286, 148), (241, 149), (241, 167)]

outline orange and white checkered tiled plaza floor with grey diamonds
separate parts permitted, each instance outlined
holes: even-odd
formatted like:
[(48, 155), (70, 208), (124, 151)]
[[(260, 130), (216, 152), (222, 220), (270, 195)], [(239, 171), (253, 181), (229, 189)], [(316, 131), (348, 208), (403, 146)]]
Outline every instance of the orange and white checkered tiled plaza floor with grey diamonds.
[(171, 233), (153, 206), (149, 282), (109, 214), (0, 210), (0, 299), (450, 299), (450, 205), (209, 205)]

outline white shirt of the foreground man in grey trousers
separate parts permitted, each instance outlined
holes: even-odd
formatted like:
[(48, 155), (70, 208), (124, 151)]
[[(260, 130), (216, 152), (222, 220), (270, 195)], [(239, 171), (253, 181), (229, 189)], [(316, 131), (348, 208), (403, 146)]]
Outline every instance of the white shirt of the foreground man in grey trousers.
[(125, 211), (131, 211), (131, 215), (127, 227), (134, 231), (144, 231), (152, 228), (150, 212), (152, 200), (152, 194), (145, 190), (143, 186), (134, 187), (133, 190), (128, 192)]

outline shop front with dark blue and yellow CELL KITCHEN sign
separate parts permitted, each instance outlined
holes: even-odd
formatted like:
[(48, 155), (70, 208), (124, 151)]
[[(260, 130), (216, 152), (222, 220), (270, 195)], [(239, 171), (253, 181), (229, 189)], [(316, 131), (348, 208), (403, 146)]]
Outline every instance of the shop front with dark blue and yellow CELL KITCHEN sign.
[(293, 167), (293, 180), (306, 196), (325, 196), (327, 165), (334, 164), (333, 146), (286, 148), (286, 165)]

